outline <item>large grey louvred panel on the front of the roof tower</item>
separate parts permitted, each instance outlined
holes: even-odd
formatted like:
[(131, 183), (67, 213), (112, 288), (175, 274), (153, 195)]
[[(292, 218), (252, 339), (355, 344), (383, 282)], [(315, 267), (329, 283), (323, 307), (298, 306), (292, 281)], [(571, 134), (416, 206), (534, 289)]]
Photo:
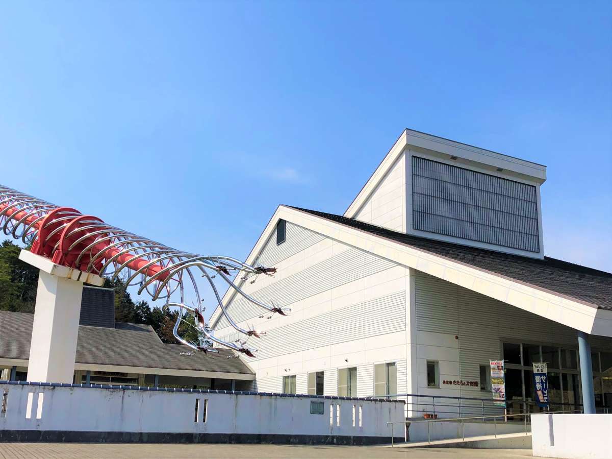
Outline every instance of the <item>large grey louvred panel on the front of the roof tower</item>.
[(416, 230), (539, 252), (535, 186), (412, 156)]

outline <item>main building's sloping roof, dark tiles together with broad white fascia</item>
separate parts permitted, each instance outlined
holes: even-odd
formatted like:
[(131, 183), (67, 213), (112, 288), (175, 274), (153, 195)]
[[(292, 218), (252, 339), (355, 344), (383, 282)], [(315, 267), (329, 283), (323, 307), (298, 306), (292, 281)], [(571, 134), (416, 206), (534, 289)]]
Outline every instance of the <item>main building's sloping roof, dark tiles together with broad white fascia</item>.
[[(253, 262), (278, 219), (423, 271), (593, 335), (612, 336), (612, 275), (546, 258), (504, 254), (386, 230), (345, 216), (280, 206), (252, 249)], [(572, 278), (567, 281), (567, 278)], [(227, 292), (223, 303), (233, 298)], [(220, 316), (217, 307), (211, 322)]]

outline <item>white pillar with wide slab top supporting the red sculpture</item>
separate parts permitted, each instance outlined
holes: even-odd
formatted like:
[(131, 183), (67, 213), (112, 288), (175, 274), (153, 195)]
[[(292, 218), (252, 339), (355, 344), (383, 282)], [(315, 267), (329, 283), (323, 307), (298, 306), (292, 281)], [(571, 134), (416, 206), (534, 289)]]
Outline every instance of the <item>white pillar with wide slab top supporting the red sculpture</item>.
[(19, 257), (40, 269), (28, 381), (72, 383), (83, 283), (101, 286), (104, 279), (25, 250)]

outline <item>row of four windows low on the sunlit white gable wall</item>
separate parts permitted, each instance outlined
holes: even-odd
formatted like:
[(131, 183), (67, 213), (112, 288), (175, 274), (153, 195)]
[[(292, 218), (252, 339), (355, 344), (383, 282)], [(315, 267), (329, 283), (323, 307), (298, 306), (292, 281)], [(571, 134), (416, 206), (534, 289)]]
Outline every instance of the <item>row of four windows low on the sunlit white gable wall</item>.
[[(296, 393), (297, 375), (283, 376), (283, 392)], [(357, 396), (357, 367), (338, 370), (338, 396)], [(308, 395), (323, 395), (324, 373), (308, 373)], [(374, 365), (374, 396), (395, 395), (397, 393), (397, 365), (395, 362)]]

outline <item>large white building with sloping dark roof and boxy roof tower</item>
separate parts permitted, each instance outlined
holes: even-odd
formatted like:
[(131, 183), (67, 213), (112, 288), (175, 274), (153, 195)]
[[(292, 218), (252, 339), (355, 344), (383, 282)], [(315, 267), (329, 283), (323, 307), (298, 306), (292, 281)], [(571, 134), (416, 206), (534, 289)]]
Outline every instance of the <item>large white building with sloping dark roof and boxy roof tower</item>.
[[(543, 165), (407, 129), (343, 215), (278, 207), (247, 260), (277, 274), (241, 287), (291, 316), (224, 298), (267, 332), (247, 344), (253, 389), (491, 398), (503, 358), (509, 409), (534, 397), (532, 362), (548, 362), (551, 401), (575, 405), (586, 333), (610, 406), (612, 275), (544, 256), (545, 180)], [(219, 309), (211, 323), (239, 337)]]

